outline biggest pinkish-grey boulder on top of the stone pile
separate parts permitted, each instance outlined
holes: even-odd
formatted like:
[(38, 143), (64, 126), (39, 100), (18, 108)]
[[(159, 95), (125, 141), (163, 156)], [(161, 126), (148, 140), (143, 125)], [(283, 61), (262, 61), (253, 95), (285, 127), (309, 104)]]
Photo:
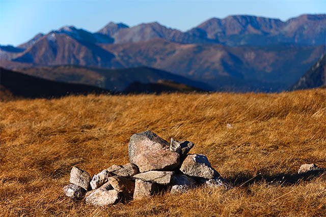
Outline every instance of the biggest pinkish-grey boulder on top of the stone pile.
[(179, 166), (180, 155), (169, 148), (167, 141), (150, 131), (133, 134), (128, 145), (130, 163), (137, 165), (140, 172), (171, 171)]

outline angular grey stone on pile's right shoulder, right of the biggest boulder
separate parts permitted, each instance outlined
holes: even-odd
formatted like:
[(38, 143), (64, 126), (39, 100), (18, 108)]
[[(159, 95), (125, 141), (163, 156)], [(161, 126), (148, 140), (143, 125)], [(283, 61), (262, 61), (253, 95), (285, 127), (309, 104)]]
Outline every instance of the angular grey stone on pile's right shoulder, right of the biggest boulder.
[(210, 166), (204, 154), (188, 154), (181, 164), (180, 171), (189, 176), (213, 179), (220, 174)]

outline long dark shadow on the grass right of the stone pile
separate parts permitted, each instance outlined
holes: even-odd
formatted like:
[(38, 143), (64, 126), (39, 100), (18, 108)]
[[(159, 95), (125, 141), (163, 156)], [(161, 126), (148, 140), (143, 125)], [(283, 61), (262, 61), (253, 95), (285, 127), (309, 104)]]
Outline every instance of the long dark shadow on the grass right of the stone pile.
[(279, 173), (276, 175), (266, 175), (264, 172), (260, 172), (255, 176), (251, 176), (246, 173), (238, 173), (231, 175), (228, 181), (233, 185), (233, 187), (248, 187), (249, 185), (257, 182), (266, 182), (270, 184), (282, 184), (282, 185), (292, 185), (299, 183), (301, 181), (310, 181), (317, 177), (325, 176), (326, 169), (321, 169), (319, 171), (307, 172), (304, 174), (293, 174), (293, 173)]

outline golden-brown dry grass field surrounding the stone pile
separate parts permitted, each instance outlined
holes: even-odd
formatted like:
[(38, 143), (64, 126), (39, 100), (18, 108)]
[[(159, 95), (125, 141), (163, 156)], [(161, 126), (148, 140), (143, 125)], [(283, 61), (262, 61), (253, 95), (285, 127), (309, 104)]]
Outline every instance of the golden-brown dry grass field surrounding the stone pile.
[[(227, 129), (230, 123), (233, 129)], [(91, 176), (128, 163), (134, 133), (195, 143), (229, 191), (93, 207), (63, 195), (75, 165)], [(77, 96), (0, 103), (0, 216), (325, 216), (326, 91)]]

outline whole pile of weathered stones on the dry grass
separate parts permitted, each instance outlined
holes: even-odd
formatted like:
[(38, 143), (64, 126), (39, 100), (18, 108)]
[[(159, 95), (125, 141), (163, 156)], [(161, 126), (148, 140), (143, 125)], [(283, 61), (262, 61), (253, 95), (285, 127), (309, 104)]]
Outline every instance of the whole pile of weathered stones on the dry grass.
[(130, 163), (113, 165), (91, 176), (73, 167), (70, 184), (63, 188), (73, 199), (85, 197), (87, 204), (104, 206), (119, 201), (150, 197), (162, 190), (183, 193), (206, 184), (209, 188), (229, 188), (203, 154), (188, 154), (194, 143), (171, 138), (169, 144), (145, 131), (130, 137)]

